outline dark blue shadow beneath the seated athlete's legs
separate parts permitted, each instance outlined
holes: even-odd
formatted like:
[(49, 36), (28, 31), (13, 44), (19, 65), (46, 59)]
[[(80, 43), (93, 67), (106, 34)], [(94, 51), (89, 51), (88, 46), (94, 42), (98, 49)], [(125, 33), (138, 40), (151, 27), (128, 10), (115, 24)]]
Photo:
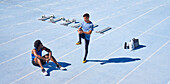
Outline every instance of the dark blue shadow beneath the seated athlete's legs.
[[(67, 67), (67, 66), (70, 66), (71, 64), (70, 63), (66, 63), (66, 62), (58, 62), (62, 67)], [(48, 75), (47, 76), (50, 76), (50, 72), (53, 71), (53, 70), (60, 70), (59, 68), (57, 68), (56, 64), (54, 62), (49, 62), (49, 63), (46, 63), (44, 66), (44, 68), (48, 68), (47, 70), (47, 73)], [(63, 70), (63, 71), (67, 71), (66, 70)]]

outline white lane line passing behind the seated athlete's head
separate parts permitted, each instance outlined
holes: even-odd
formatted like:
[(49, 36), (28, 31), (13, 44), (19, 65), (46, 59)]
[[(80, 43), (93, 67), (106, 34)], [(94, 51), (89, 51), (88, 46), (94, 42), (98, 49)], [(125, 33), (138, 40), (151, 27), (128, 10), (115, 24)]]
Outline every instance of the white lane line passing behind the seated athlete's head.
[[(50, 44), (50, 43), (52, 43), (52, 42), (54, 42), (54, 41), (56, 41), (56, 40), (59, 40), (59, 39), (62, 39), (62, 38), (64, 38), (64, 37), (66, 37), (66, 36), (68, 36), (68, 35), (70, 35), (70, 34), (72, 34), (72, 33), (74, 33), (74, 32), (76, 32), (76, 31), (70, 32), (70, 33), (65, 34), (65, 35), (63, 35), (63, 36), (60, 36), (60, 37), (58, 37), (58, 38), (56, 38), (56, 39), (54, 39), (54, 40), (51, 40), (51, 41), (49, 41), (49, 42), (47, 42), (47, 43), (45, 43), (45, 44), (48, 45), (48, 44)], [(26, 52), (24, 52), (24, 53), (21, 53), (21, 54), (17, 55), (16, 57), (13, 57), (13, 58), (11, 58), (11, 59), (9, 59), (9, 60), (6, 60), (6, 61), (1, 62), (0, 65), (1, 65), (1, 64), (4, 64), (4, 63), (6, 63), (6, 62), (9, 62), (9, 61), (11, 61), (11, 60), (13, 60), (13, 59), (16, 59), (16, 58), (18, 58), (18, 57), (21, 57), (22, 55), (24, 55), (24, 54), (26, 54), (26, 53), (30, 53), (30, 52), (31, 52), (31, 50), (28, 50), (28, 51), (26, 51)]]

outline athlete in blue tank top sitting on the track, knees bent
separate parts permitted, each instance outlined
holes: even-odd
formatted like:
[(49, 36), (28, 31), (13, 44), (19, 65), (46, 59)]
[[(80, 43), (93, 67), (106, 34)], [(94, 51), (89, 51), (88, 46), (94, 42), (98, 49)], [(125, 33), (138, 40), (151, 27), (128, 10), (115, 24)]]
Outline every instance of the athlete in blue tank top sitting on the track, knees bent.
[[(60, 64), (58, 64), (56, 59), (52, 56), (51, 50), (43, 46), (40, 40), (36, 40), (34, 42), (34, 47), (35, 48), (32, 50), (32, 64), (34, 66), (40, 66), (42, 69), (43, 75), (47, 75), (48, 73), (45, 71), (42, 65), (45, 64), (46, 61), (47, 63), (49, 63), (50, 60), (53, 61), (57, 65), (58, 68), (60, 68), (61, 70), (65, 70), (65, 68), (62, 67)], [(48, 52), (48, 54), (42, 56), (43, 50)]]

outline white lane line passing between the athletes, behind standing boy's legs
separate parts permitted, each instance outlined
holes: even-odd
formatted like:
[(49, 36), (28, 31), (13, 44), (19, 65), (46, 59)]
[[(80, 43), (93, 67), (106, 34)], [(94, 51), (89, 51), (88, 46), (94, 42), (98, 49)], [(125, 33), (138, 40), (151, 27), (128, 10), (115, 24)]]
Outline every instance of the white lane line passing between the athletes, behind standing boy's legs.
[[(159, 6), (159, 7), (160, 7), (160, 6)], [(149, 13), (149, 12), (151, 12), (151, 11), (153, 11), (153, 10), (156, 10), (156, 9), (159, 8), (159, 7), (155, 7), (155, 8), (153, 8), (153, 9), (151, 9), (151, 10), (145, 12), (144, 14), (139, 15), (138, 17), (136, 17), (136, 18), (130, 20), (129, 22), (127, 22), (127, 23), (121, 25), (120, 27), (117, 27), (117, 28), (115, 28), (114, 30), (110, 31), (110, 33), (113, 32), (113, 31), (115, 31), (115, 30), (117, 30), (117, 29), (119, 29), (119, 28), (121, 28), (121, 27), (123, 27), (123, 26), (125, 26), (125, 25), (127, 25), (128, 23), (130, 23), (130, 22), (132, 22), (132, 21), (134, 21), (134, 20), (136, 20), (136, 19), (138, 19), (138, 18), (140, 18), (140, 17), (146, 15), (147, 13)], [(108, 33), (104, 34), (103, 36), (105, 36), (105, 35), (107, 35), (107, 34), (108, 34)], [(100, 36), (99, 38), (102, 38), (103, 36)], [(99, 39), (99, 38), (97, 38), (97, 39)], [(97, 40), (97, 39), (96, 39), (96, 40)], [(77, 48), (77, 49), (74, 49), (73, 51), (77, 51), (77, 50), (79, 50), (80, 48), (81, 48), (81, 47), (79, 47), (79, 48)], [(70, 53), (72, 53), (72, 52), (69, 52), (69, 54), (70, 54)], [(67, 56), (67, 55), (68, 55), (68, 54), (65, 54), (65, 55), (62, 56), (61, 58), (65, 57), (65, 56)], [(60, 59), (61, 59), (61, 58), (60, 58)], [(32, 72), (31, 72), (31, 73), (32, 73)], [(29, 74), (29, 75), (31, 75), (31, 74)], [(27, 75), (27, 76), (29, 76), (29, 75)], [(27, 76), (22, 77), (22, 79), (25, 78), (25, 77), (27, 77)], [(22, 80), (22, 79), (20, 79), (20, 80)], [(19, 80), (17, 80), (17, 81), (19, 81)], [(17, 81), (15, 81), (15, 82), (17, 82)], [(15, 82), (14, 82), (14, 83), (15, 83)]]

